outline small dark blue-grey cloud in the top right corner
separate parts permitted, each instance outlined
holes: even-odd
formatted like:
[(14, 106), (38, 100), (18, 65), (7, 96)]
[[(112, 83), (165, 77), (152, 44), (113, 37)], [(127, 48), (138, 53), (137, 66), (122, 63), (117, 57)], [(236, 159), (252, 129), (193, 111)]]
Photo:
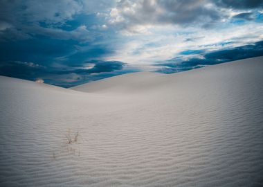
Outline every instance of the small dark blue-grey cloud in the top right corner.
[(215, 1), (217, 6), (224, 8), (235, 8), (235, 9), (250, 9), (250, 8), (262, 8), (262, 0), (219, 0)]

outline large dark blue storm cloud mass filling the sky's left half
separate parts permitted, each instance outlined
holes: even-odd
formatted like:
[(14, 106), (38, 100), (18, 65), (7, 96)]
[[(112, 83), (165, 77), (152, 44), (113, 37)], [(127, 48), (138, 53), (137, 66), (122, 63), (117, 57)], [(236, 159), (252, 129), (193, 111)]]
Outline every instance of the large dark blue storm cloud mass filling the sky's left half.
[(85, 69), (87, 60), (114, 53), (116, 43), (105, 38), (111, 41), (115, 34), (91, 29), (105, 23), (105, 17), (96, 13), (109, 12), (114, 4), (114, 0), (0, 0), (0, 75), (44, 78), (69, 87), (76, 81), (88, 82), (93, 73), (109, 77), (120, 71), (123, 62), (94, 62)]

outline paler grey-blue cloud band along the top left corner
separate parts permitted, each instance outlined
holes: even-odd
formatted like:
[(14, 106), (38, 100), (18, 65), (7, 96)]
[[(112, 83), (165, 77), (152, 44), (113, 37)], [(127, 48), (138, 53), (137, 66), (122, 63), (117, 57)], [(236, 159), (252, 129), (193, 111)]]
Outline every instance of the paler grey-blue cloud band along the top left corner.
[[(114, 6), (113, 0), (63, 0), (63, 1), (35, 1), (35, 0), (1, 0), (1, 19), (7, 22), (22, 22), (27, 24), (42, 21), (49, 25), (64, 24), (82, 12), (91, 14), (106, 11)], [(15, 10), (15, 11), (14, 11)]]

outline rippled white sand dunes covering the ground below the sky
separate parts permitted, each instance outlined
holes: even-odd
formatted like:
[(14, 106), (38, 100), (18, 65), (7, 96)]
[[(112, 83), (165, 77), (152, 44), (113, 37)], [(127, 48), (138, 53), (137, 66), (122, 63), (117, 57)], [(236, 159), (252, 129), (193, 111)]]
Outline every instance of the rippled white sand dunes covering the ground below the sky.
[(78, 91), (0, 77), (0, 186), (262, 186), (262, 82), (263, 57)]

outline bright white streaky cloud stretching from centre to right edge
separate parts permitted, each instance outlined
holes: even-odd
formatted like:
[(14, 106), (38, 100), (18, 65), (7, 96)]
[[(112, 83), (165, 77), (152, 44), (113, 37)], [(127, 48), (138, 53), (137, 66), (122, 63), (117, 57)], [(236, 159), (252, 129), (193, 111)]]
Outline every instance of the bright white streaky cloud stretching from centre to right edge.
[[(129, 64), (153, 64), (172, 59), (182, 51), (215, 51), (221, 48), (252, 44), (263, 39), (262, 24), (230, 26), (205, 30), (203, 28), (178, 28), (152, 26), (150, 35), (131, 37), (107, 60), (119, 60)], [(188, 41), (188, 42), (186, 42)]]

